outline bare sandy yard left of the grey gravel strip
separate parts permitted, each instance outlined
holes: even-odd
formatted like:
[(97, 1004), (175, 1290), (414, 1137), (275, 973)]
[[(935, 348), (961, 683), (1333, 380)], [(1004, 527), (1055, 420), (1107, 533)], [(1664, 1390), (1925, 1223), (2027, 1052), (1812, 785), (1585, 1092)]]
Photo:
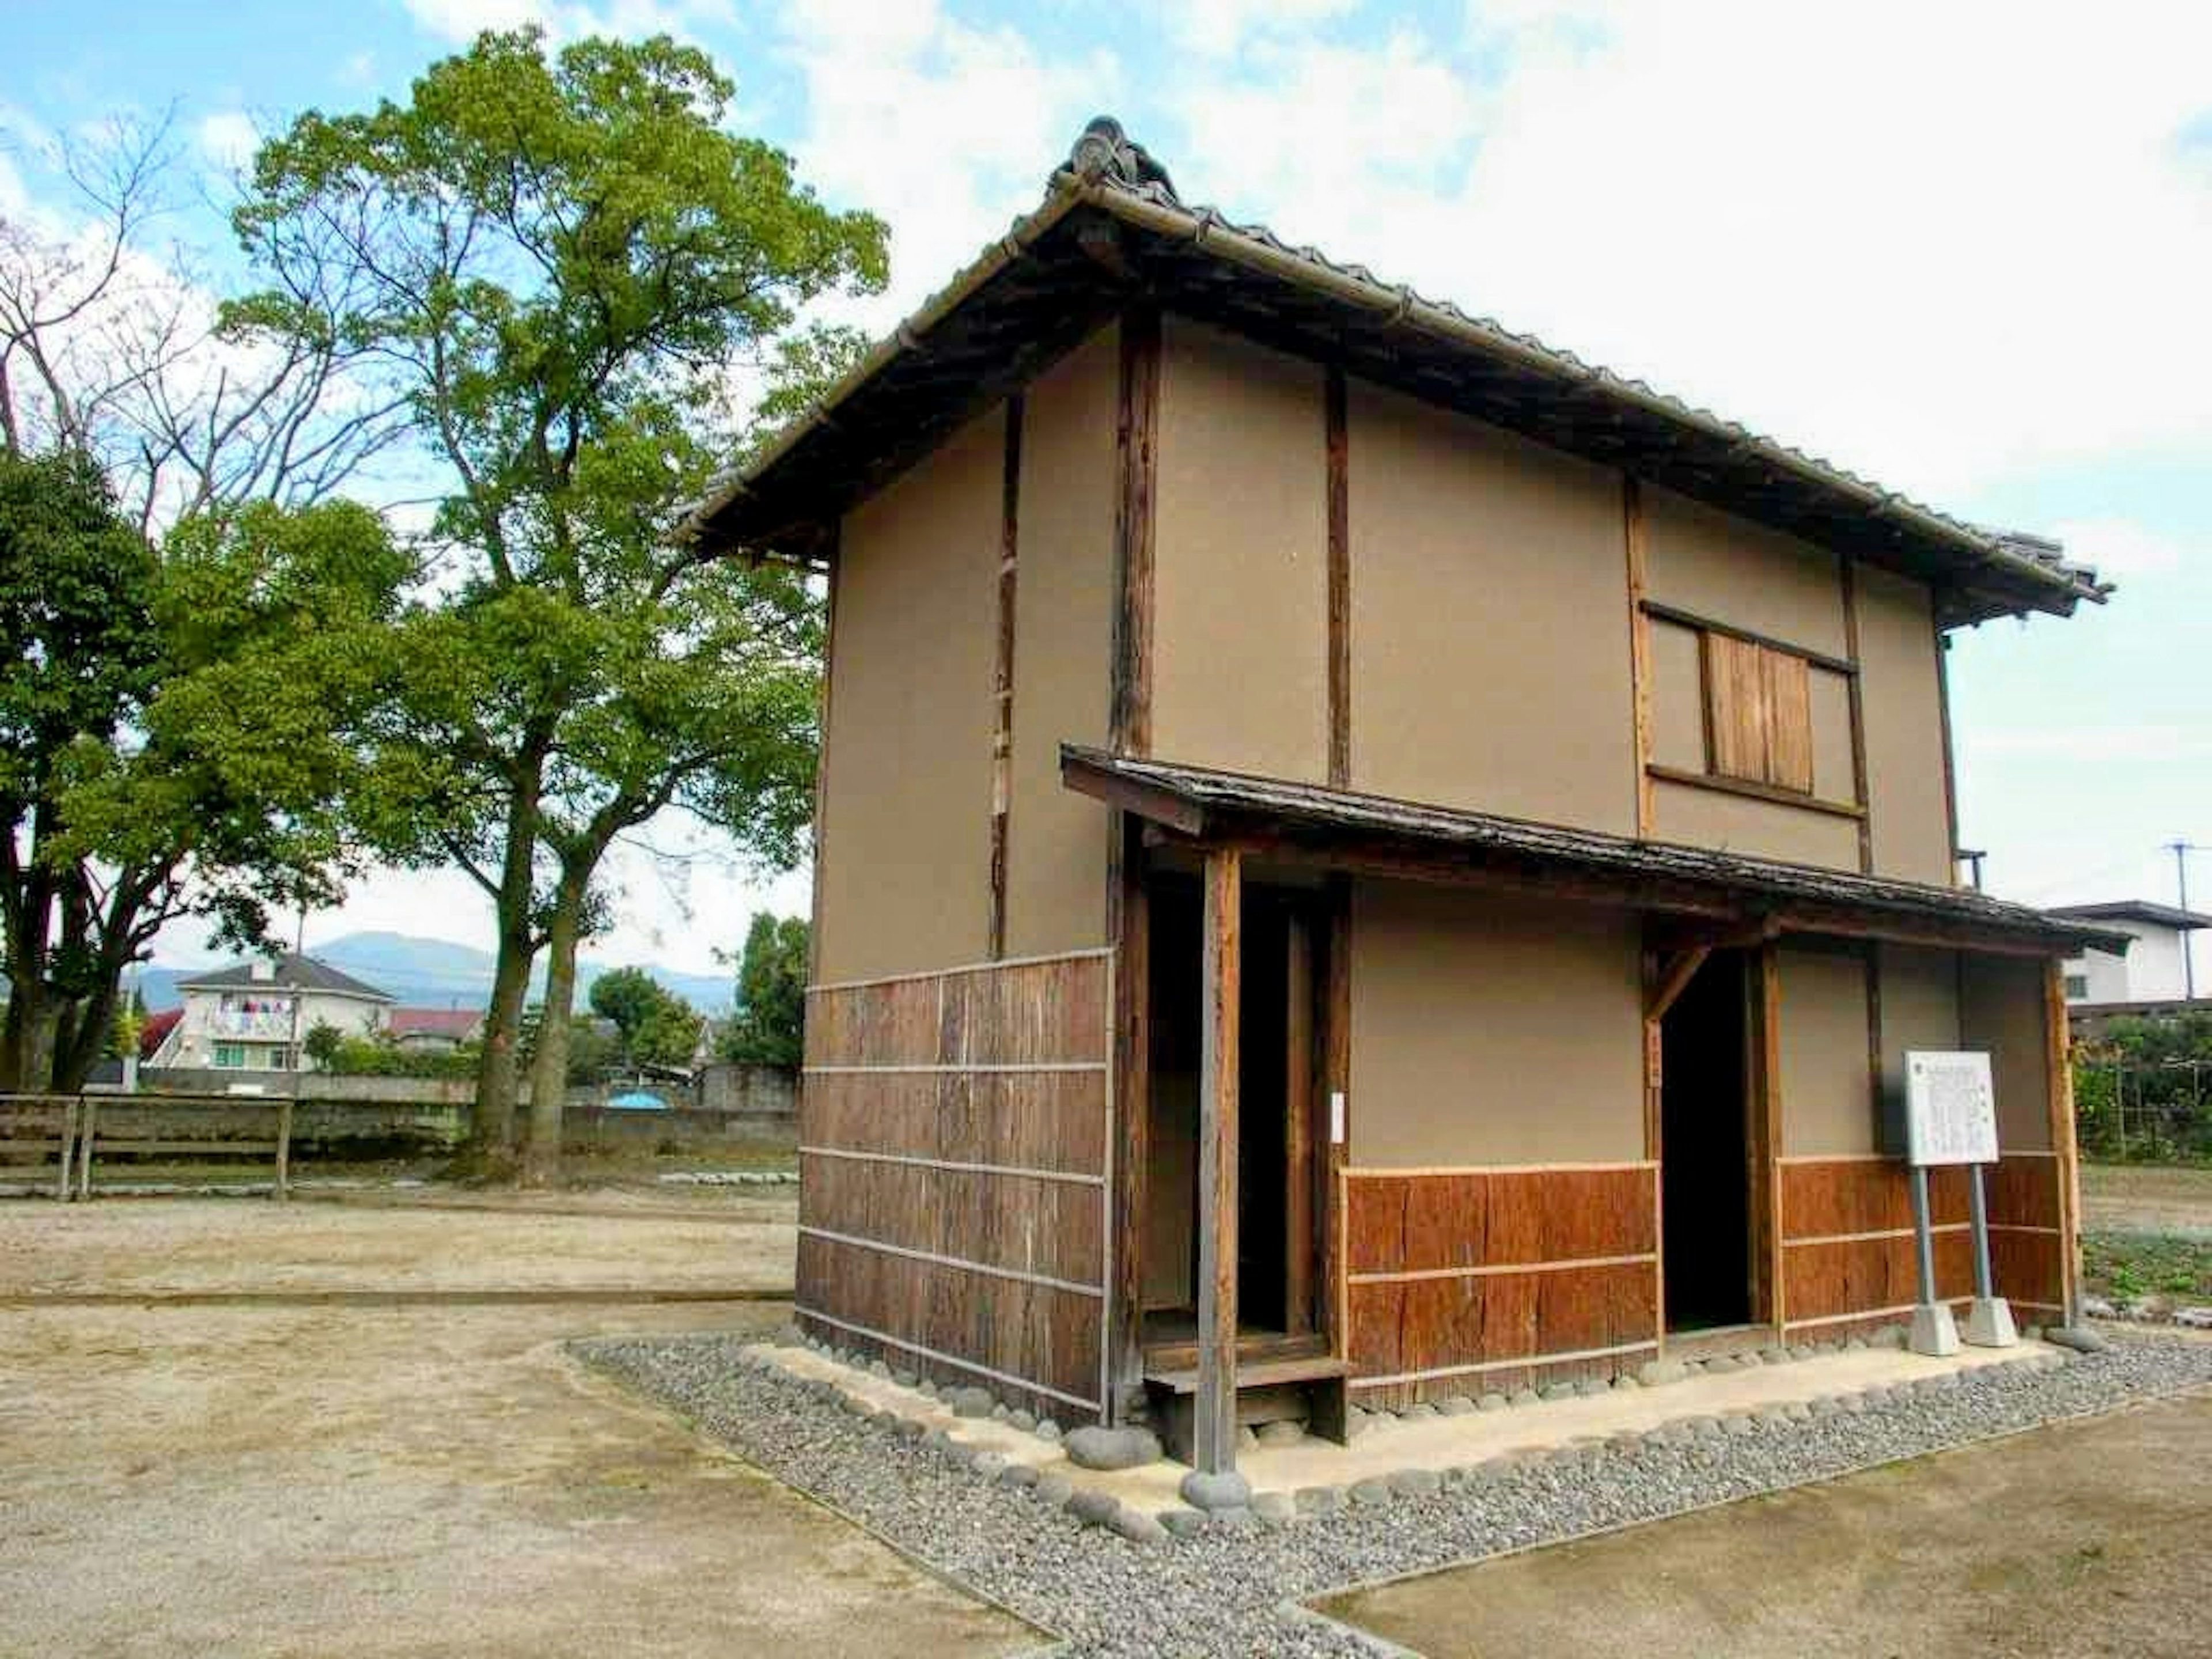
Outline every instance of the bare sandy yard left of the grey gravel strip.
[(9, 1292), (153, 1298), (0, 1307), (0, 1650), (880, 1659), (1040, 1646), (560, 1352), (586, 1334), (772, 1323), (776, 1303), (159, 1301), (790, 1279), (787, 1201), (781, 1217), (743, 1201), (675, 1217), (515, 1208), (0, 1206)]

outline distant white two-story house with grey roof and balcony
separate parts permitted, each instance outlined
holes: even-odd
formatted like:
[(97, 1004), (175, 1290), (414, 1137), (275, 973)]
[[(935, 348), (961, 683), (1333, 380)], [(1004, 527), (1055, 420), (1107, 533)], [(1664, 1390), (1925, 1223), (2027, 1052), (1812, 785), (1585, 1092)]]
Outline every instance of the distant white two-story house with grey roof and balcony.
[(161, 1037), (148, 1068), (299, 1071), (301, 1044), (316, 1026), (347, 1037), (374, 1035), (392, 998), (312, 956), (250, 958), (179, 980), (184, 1013)]

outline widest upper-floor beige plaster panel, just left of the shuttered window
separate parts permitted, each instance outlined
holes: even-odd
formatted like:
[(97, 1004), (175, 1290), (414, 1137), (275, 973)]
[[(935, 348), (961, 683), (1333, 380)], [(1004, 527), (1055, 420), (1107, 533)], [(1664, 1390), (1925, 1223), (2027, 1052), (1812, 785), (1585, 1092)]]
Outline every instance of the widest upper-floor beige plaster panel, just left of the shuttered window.
[(1352, 781), (1635, 834), (1619, 476), (1347, 396)]

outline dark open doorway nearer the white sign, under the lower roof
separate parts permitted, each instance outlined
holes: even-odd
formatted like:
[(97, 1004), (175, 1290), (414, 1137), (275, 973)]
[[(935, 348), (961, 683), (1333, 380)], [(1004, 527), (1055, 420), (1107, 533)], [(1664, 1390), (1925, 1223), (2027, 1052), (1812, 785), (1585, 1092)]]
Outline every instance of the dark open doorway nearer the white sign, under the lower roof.
[(1714, 951), (1659, 1022), (1666, 1327), (1747, 1325), (1750, 1053), (1743, 951)]

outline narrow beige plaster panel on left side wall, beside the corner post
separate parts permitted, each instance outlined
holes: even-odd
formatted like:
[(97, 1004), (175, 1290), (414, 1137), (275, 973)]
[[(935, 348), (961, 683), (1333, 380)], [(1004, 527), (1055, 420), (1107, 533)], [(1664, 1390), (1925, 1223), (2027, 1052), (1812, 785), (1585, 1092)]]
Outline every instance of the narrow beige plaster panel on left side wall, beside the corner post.
[(1119, 338), (1106, 327), (1046, 369), (1024, 400), (1006, 814), (1009, 956), (1106, 942), (1106, 807), (1060, 785), (1060, 745), (1106, 743), (1117, 392)]

